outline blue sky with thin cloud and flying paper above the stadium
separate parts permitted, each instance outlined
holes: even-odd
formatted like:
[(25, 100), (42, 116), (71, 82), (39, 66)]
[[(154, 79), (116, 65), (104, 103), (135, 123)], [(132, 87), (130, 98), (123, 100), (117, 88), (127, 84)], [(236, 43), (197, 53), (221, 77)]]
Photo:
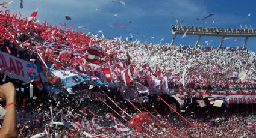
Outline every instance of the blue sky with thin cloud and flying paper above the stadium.
[[(14, 0), (7, 9), (20, 11), (28, 17), (39, 8), (39, 23), (46, 22), (59, 26), (59, 23), (86, 26), (81, 31), (98, 34), (102, 30), (105, 38), (133, 36), (133, 41), (166, 44), (172, 41), (172, 25), (176, 20), (180, 25), (221, 28), (240, 28), (251, 25), (256, 28), (255, 0)], [(0, 2), (4, 2), (0, 0)], [(125, 5), (123, 4), (125, 3)], [(0, 7), (1, 10), (6, 10)], [(202, 20), (208, 14), (214, 16)], [(70, 16), (72, 20), (66, 20)], [(199, 20), (197, 20), (199, 19)], [(75, 30), (75, 29), (74, 29)], [(101, 33), (99, 33), (101, 36)], [(196, 36), (176, 37), (175, 45), (194, 46)], [(202, 37), (200, 45), (212, 41), (208, 46), (219, 46), (220, 37)], [(223, 47), (242, 47), (244, 38), (225, 40)], [(256, 52), (256, 37), (250, 37), (246, 46)]]

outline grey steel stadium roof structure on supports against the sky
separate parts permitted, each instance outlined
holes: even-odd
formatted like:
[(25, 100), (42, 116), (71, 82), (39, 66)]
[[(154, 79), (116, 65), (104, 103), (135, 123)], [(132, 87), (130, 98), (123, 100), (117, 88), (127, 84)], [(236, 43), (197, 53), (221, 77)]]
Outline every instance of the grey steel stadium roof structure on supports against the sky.
[(198, 26), (181, 26), (181, 25), (172, 25), (172, 34), (173, 39), (171, 45), (174, 44), (176, 35), (197, 35), (198, 40), (196, 45), (198, 46), (202, 36), (214, 36), (222, 37), (220, 40), (219, 47), (222, 47), (225, 37), (245, 37), (243, 43), (243, 49), (246, 49), (246, 43), (249, 37), (256, 37), (256, 29), (242, 29), (242, 28), (206, 28)]

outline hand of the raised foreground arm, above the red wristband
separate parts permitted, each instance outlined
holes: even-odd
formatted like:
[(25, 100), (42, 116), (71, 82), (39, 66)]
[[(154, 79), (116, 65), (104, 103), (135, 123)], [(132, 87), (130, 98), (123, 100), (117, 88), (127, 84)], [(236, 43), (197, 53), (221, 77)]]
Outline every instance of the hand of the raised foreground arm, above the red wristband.
[(0, 101), (15, 101), (16, 98), (16, 89), (13, 83), (8, 82), (0, 86)]

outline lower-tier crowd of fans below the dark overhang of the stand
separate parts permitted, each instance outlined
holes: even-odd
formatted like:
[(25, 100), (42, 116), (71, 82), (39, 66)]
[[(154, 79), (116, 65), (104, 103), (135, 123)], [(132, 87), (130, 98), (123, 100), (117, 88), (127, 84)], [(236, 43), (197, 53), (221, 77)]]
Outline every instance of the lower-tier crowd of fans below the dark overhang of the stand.
[[(44, 94), (43, 94), (44, 95)], [(108, 109), (101, 101), (89, 99), (82, 103), (70, 95), (60, 95), (52, 100), (53, 120), (63, 122), (64, 125), (46, 125), (52, 122), (48, 95), (35, 95), (33, 100), (27, 99), (27, 103), (21, 106), (22, 99), (18, 99), (18, 129), (19, 137), (31, 137), (43, 134), (45, 137), (255, 137), (256, 125), (246, 127), (247, 120), (256, 120), (255, 108), (246, 109), (246, 105), (231, 107), (231, 109), (219, 110), (216, 107), (208, 107), (207, 112), (184, 113), (184, 117), (192, 122), (195, 127), (180, 118), (175, 113), (162, 116), (149, 113), (140, 116), (133, 108), (127, 108), (126, 113), (133, 115), (142, 121), (143, 127), (131, 124), (133, 118), (127, 116), (122, 110), (118, 110), (113, 104), (107, 102), (117, 113)], [(42, 99), (42, 100), (41, 100)], [(117, 104), (122, 106), (125, 102)], [(20, 106), (19, 106), (20, 105)], [(138, 106), (143, 110), (142, 107)], [(153, 107), (152, 107), (153, 108)], [(246, 109), (246, 110), (245, 110)], [(160, 112), (160, 110), (158, 110)], [(202, 115), (203, 114), (203, 115)], [(113, 117), (114, 116), (114, 117)], [(148, 118), (148, 119), (145, 119)], [(124, 119), (129, 122), (125, 122)], [(149, 120), (149, 121), (148, 121)], [(136, 122), (136, 123), (140, 123)], [(75, 125), (78, 124), (78, 125)], [(122, 125), (123, 129), (117, 129)], [(135, 127), (134, 127), (135, 126)], [(172, 135), (173, 134), (173, 135)]]

